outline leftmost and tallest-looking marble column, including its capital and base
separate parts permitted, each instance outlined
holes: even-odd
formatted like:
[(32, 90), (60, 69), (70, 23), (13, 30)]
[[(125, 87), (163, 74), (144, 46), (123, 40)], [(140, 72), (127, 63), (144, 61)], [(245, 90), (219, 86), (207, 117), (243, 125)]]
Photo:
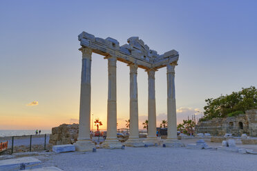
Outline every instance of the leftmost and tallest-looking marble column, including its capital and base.
[(82, 77), (79, 106), (79, 136), (75, 143), (78, 151), (91, 151), (95, 147), (90, 139), (91, 123), (91, 55), (92, 50), (81, 48), (82, 51)]

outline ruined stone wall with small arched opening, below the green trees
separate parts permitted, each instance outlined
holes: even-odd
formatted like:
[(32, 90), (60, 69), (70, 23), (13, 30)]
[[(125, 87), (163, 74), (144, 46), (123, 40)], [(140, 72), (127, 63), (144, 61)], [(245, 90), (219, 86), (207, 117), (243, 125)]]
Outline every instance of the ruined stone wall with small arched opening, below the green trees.
[(233, 136), (247, 134), (257, 136), (257, 110), (247, 110), (237, 117), (214, 118), (201, 121), (196, 125), (196, 133), (210, 133), (214, 136), (223, 136), (226, 133)]

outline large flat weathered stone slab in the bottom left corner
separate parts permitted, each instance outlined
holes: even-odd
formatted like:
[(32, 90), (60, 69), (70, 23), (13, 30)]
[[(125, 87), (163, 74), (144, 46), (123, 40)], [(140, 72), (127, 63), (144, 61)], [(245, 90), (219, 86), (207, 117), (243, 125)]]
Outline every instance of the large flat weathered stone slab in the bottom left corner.
[(21, 157), (18, 159), (7, 159), (0, 161), (0, 170), (14, 171), (38, 168), (41, 161), (34, 157)]

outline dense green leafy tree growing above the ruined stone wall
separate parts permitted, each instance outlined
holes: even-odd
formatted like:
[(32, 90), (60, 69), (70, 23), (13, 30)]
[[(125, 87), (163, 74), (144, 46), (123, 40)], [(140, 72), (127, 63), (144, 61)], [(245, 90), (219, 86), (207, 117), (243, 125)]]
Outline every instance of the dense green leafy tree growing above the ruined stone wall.
[(204, 106), (204, 117), (201, 119), (209, 120), (216, 117), (233, 116), (245, 113), (245, 110), (257, 108), (257, 90), (254, 86), (242, 88), (239, 92), (220, 95), (216, 99), (206, 99), (207, 105)]

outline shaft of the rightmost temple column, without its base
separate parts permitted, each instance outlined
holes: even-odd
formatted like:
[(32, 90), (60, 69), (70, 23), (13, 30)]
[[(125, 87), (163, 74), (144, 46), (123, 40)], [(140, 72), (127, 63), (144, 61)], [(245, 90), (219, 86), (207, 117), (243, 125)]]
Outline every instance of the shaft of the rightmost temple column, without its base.
[(177, 118), (175, 108), (175, 65), (168, 64), (167, 68), (167, 139), (177, 139)]

